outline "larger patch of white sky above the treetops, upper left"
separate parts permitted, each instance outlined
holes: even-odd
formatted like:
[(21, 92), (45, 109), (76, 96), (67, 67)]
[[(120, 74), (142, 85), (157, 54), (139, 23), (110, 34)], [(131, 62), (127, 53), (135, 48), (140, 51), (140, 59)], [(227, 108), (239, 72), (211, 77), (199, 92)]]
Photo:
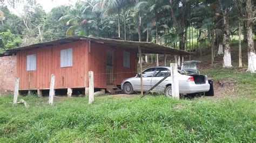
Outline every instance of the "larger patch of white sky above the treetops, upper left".
[(59, 5), (73, 5), (78, 0), (37, 0), (37, 3), (43, 6), (45, 12), (50, 12), (52, 8)]

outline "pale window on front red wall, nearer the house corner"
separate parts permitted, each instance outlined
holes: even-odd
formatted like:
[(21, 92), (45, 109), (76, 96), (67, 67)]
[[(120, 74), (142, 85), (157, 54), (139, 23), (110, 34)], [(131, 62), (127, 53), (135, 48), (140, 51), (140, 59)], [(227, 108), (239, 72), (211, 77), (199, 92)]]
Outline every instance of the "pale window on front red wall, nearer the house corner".
[(72, 48), (60, 50), (60, 67), (72, 67)]

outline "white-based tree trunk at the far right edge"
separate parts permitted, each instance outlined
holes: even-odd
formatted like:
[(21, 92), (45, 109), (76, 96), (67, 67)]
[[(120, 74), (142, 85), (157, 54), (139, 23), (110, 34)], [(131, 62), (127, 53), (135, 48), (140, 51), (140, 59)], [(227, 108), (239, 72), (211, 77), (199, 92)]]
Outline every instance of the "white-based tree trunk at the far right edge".
[(247, 16), (247, 44), (248, 44), (248, 69), (251, 73), (256, 73), (256, 55), (254, 50), (254, 41), (253, 41), (253, 11), (251, 0), (246, 1), (246, 16)]

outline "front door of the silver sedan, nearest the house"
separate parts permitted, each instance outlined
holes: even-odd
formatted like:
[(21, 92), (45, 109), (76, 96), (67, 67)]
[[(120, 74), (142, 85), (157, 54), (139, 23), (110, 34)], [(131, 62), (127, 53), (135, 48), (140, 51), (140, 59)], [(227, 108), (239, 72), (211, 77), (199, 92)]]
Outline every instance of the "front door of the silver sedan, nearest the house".
[[(154, 70), (156, 68), (149, 68), (142, 72), (143, 76), (143, 91), (147, 91), (151, 88), (151, 79), (154, 75)], [(136, 80), (133, 81), (134, 90), (140, 91), (140, 74), (136, 77)]]

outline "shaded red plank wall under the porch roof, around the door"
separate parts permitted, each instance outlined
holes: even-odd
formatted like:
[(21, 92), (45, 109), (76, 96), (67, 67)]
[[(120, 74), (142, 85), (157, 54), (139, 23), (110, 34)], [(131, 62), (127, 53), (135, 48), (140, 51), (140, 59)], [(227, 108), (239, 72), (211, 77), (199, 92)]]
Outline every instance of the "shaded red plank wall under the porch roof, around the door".
[[(114, 53), (114, 85), (120, 85), (125, 78), (133, 77), (137, 74), (136, 51), (91, 42), (91, 53), (88, 54), (88, 71), (92, 70), (94, 73), (95, 88), (106, 88), (106, 53), (108, 50)], [(123, 67), (124, 51), (131, 52), (130, 68)]]

